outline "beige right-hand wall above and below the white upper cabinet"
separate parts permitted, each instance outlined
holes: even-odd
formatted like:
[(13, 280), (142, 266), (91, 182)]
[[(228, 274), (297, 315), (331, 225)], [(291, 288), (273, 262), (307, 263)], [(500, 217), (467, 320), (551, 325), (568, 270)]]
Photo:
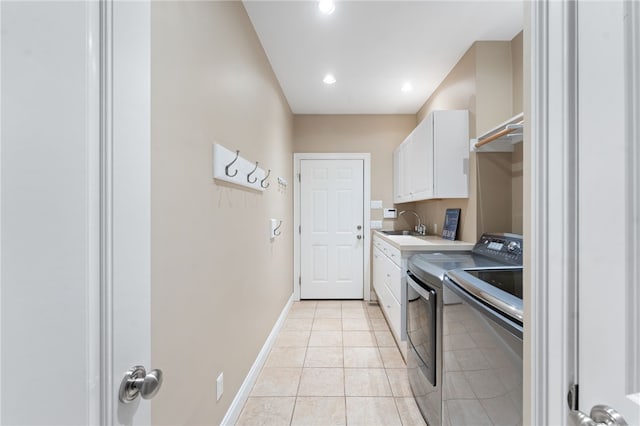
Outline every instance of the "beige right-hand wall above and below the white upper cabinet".
[[(520, 64), (518, 65), (518, 61)], [(431, 111), (469, 110), (469, 137), (482, 134), (522, 108), (522, 33), (509, 41), (479, 41), (464, 54), (418, 111), (418, 121)], [(517, 111), (517, 112), (520, 112)], [(429, 200), (413, 206), (441, 231), (447, 208), (462, 209), (458, 239), (475, 242), (482, 232), (511, 231), (522, 217), (520, 157), (511, 154), (469, 156), (469, 198)], [(519, 204), (518, 204), (519, 202)], [(402, 206), (404, 208), (404, 206)], [(519, 220), (519, 222), (518, 222)]]

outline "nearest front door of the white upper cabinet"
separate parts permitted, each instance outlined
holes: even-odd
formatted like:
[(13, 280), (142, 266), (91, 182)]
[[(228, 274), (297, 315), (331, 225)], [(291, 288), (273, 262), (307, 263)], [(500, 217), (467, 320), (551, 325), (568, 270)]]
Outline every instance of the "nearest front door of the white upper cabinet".
[(411, 201), (433, 198), (433, 114), (418, 124), (412, 136), (406, 168)]

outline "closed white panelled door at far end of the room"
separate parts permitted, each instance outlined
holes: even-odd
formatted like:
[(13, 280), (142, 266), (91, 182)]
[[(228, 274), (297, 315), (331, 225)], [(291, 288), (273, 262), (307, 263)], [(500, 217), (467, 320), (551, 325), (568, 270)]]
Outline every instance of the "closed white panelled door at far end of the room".
[(363, 163), (300, 161), (301, 299), (363, 298)]

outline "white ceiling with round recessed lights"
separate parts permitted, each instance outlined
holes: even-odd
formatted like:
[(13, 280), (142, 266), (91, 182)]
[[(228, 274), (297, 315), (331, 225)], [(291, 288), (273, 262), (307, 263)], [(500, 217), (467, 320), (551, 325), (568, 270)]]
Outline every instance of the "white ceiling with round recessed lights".
[(474, 41), (523, 27), (520, 0), (338, 0), (331, 15), (311, 0), (244, 6), (295, 114), (416, 113)]

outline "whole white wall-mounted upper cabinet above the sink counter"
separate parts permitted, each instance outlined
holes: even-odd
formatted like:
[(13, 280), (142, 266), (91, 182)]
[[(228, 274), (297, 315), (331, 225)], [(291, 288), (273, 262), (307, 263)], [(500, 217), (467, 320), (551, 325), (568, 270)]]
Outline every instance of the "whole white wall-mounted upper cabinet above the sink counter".
[(393, 153), (394, 202), (469, 196), (469, 112), (433, 111)]

